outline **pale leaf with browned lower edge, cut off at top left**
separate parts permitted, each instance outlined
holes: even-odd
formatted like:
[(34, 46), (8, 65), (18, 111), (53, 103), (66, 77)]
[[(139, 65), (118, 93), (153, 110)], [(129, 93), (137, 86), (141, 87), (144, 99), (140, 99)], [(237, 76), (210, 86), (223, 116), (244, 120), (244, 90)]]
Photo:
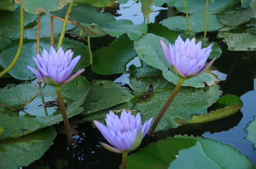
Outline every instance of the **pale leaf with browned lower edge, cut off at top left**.
[(33, 14), (49, 13), (50, 11), (57, 11), (66, 6), (74, 0), (14, 0), (20, 4), (26, 12)]

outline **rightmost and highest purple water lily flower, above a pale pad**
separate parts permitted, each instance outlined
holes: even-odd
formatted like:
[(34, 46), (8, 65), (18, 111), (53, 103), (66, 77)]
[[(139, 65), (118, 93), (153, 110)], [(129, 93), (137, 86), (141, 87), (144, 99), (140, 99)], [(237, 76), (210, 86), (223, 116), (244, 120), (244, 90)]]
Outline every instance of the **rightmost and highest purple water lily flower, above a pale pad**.
[(184, 80), (207, 71), (216, 59), (214, 58), (210, 63), (205, 64), (212, 51), (212, 44), (207, 48), (201, 49), (201, 42), (196, 44), (195, 38), (191, 41), (187, 39), (184, 42), (179, 36), (173, 45), (169, 43), (169, 48), (162, 40), (160, 40), (160, 43), (163, 53), (170, 64), (170, 71)]

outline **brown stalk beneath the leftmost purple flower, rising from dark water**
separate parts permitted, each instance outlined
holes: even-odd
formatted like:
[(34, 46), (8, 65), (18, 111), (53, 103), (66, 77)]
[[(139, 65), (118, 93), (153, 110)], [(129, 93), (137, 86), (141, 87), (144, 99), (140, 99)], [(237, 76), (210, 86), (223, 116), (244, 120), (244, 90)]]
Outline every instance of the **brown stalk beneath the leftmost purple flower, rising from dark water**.
[(66, 113), (63, 98), (61, 95), (61, 89), (60, 89), (60, 86), (55, 86), (55, 88), (56, 88), (57, 96), (59, 99), (59, 106), (60, 106), (60, 110), (61, 110), (61, 114), (62, 114), (62, 118), (63, 118), (63, 122), (64, 122), (64, 127), (65, 127), (67, 137), (68, 137), (68, 143), (73, 144), (72, 134), (71, 134), (70, 126), (69, 126), (69, 120), (68, 120), (68, 116)]

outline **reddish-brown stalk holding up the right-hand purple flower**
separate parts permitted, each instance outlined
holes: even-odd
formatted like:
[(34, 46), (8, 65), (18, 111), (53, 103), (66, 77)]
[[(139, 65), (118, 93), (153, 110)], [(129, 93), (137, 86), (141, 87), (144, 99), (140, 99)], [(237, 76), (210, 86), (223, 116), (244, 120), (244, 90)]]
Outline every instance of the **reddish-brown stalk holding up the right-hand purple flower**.
[(183, 79), (179, 79), (176, 87), (174, 88), (171, 96), (169, 97), (169, 99), (166, 101), (165, 105), (163, 105), (163, 108), (161, 109), (161, 111), (159, 112), (159, 114), (157, 115), (154, 123), (152, 124), (150, 130), (148, 131), (147, 135), (153, 135), (155, 129), (156, 129), (156, 126), (158, 125), (160, 119), (162, 118), (163, 114), (165, 113), (165, 111), (167, 110), (167, 108), (169, 107), (169, 105), (171, 104), (173, 98), (176, 96), (176, 94), (178, 93), (178, 91), (180, 90), (181, 88), (181, 85), (183, 83)]

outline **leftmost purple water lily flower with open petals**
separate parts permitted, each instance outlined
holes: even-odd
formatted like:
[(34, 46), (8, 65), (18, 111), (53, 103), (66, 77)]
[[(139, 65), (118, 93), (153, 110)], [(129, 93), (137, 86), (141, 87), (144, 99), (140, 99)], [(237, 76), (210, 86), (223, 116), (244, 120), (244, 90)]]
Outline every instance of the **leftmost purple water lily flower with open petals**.
[(79, 55), (72, 60), (73, 52), (71, 52), (71, 49), (64, 53), (60, 47), (56, 53), (53, 46), (51, 46), (49, 53), (43, 49), (43, 56), (41, 57), (39, 54), (36, 56), (37, 58), (33, 57), (33, 59), (39, 72), (30, 66), (28, 66), (28, 69), (51, 86), (60, 86), (61, 84), (67, 83), (85, 70), (81, 69), (70, 76), (81, 57)]

